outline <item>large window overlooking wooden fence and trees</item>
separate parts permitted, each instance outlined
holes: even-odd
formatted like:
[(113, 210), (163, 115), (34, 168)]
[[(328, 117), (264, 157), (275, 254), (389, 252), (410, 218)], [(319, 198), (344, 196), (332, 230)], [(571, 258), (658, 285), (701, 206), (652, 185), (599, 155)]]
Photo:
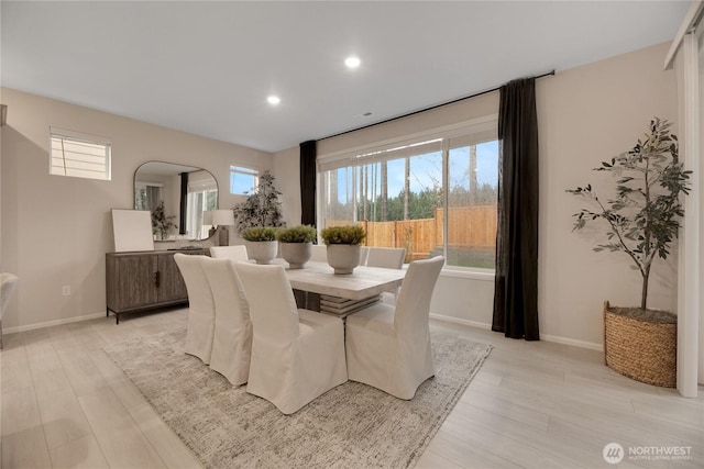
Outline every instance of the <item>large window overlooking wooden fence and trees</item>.
[(406, 261), (444, 255), (449, 266), (494, 268), (496, 121), (440, 135), (322, 156), (323, 226), (360, 224), (369, 246), (405, 247)]

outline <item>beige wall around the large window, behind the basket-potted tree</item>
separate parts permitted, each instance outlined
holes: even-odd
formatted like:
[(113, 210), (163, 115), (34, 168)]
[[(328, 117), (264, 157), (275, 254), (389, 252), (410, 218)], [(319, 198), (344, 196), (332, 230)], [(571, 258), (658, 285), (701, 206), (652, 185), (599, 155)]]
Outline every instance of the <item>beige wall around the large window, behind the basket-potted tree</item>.
[[(675, 121), (674, 76), (662, 71), (667, 48), (668, 44), (662, 44), (537, 80), (541, 191), (538, 298), (543, 338), (601, 348), (604, 300), (619, 305), (640, 303), (640, 276), (630, 269), (626, 255), (592, 252), (597, 241), (594, 231), (572, 233), (572, 214), (582, 205), (565, 189), (591, 182), (600, 192), (610, 190), (613, 181), (591, 169), (630, 149), (654, 115)], [(320, 141), (318, 155), (497, 112), (498, 92), (493, 92)], [(294, 159), (297, 165), (297, 148), (274, 155), (276, 175), (288, 181), (287, 188), (298, 187)], [(278, 172), (279, 168), (285, 172)], [(443, 272), (431, 313), (488, 327), (493, 293), (493, 276)], [(674, 311), (675, 299), (676, 250), (667, 264), (657, 261), (653, 267), (649, 306)]]

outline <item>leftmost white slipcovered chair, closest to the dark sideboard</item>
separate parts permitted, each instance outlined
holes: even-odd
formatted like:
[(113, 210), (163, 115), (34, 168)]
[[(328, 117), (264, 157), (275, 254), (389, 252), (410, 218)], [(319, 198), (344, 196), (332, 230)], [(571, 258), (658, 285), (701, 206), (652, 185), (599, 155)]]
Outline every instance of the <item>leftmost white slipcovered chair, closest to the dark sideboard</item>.
[(206, 256), (176, 253), (174, 260), (188, 291), (188, 330), (185, 351), (210, 364), (216, 328), (216, 308), (200, 258)]

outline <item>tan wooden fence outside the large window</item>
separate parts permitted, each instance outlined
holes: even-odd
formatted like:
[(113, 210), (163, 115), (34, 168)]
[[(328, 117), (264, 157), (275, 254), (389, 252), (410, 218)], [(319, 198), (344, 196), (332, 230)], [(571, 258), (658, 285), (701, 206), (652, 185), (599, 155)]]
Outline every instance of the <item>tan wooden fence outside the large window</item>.
[[(435, 217), (395, 222), (358, 222), (366, 231), (367, 246), (405, 247), (406, 261), (428, 257), (442, 248), (444, 211), (436, 208)], [(326, 226), (350, 224), (328, 220)], [(496, 206), (453, 206), (449, 210), (448, 247), (460, 249), (494, 249), (496, 247)]]

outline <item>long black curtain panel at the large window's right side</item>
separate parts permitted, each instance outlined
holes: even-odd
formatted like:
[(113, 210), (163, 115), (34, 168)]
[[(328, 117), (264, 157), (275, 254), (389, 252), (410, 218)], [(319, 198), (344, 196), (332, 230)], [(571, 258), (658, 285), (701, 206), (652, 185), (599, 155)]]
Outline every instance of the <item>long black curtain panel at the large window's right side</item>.
[(538, 119), (535, 78), (501, 88), (498, 223), (492, 330), (539, 340)]

